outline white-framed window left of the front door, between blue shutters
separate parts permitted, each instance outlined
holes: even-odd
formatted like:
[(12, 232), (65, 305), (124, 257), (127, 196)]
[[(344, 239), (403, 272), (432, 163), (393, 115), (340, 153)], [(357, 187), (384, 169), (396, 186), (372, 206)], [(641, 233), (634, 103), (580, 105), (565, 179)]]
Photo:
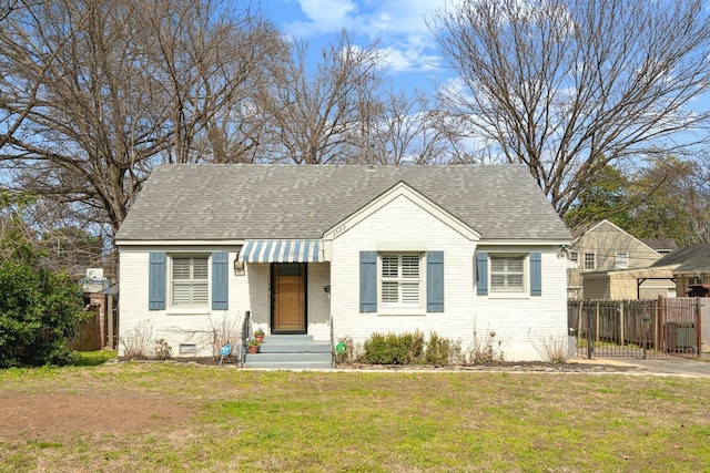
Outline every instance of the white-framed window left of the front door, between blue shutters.
[(207, 268), (206, 256), (172, 258), (173, 306), (207, 306)]

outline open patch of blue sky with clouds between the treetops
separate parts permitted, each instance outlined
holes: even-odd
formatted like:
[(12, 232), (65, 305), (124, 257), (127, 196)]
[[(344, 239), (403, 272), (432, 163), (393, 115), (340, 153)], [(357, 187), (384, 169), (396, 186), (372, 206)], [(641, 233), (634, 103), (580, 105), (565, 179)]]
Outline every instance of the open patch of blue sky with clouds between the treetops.
[[(397, 86), (432, 90), (447, 68), (426, 24), (446, 0), (267, 0), (262, 8), (282, 31), (308, 41), (310, 53), (346, 29), (356, 45), (378, 40)], [(450, 0), (448, 2), (452, 3)]]

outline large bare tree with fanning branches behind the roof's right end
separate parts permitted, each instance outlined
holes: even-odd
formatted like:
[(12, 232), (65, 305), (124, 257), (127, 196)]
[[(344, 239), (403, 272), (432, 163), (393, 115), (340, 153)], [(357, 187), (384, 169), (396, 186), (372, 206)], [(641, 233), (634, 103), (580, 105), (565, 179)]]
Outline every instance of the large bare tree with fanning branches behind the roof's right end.
[(691, 109), (710, 88), (701, 0), (478, 0), (434, 28), (460, 74), (442, 89), (447, 112), (528, 165), (560, 215), (607, 164), (707, 136), (693, 131), (709, 114)]

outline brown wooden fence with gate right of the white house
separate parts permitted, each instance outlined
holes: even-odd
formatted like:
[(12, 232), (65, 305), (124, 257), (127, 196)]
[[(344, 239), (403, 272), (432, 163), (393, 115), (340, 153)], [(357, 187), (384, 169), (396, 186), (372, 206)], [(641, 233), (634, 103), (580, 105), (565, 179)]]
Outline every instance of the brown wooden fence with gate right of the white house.
[(682, 356), (710, 351), (710, 299), (569, 300), (579, 356)]

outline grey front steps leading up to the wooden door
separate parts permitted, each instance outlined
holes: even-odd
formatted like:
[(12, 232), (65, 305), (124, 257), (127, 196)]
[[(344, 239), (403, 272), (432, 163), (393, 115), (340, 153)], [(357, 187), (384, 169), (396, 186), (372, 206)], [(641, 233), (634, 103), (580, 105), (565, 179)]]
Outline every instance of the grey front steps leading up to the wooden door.
[(329, 369), (331, 343), (315, 341), (308, 335), (270, 335), (264, 337), (258, 353), (244, 356), (244, 368)]

